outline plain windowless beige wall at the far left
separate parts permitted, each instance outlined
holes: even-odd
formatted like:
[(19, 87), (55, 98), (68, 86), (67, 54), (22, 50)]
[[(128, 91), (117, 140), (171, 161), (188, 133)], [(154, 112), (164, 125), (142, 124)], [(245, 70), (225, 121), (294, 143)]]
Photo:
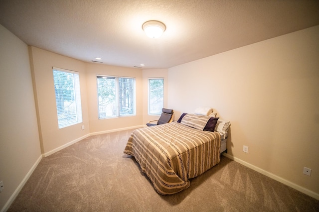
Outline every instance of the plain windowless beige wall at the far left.
[(0, 25), (0, 211), (42, 158), (28, 47)]

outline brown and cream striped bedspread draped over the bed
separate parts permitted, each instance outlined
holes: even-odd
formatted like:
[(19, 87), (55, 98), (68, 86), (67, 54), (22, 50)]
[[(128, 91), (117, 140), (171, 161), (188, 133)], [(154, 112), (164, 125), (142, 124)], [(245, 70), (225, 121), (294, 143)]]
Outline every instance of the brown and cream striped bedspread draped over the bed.
[(175, 194), (220, 160), (220, 134), (172, 122), (134, 130), (124, 153), (135, 157), (161, 195)]

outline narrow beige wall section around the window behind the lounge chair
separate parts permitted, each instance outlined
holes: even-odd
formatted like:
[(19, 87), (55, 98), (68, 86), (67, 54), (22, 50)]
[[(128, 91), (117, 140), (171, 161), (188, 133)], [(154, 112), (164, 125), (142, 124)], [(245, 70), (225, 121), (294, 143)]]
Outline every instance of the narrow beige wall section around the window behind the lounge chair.
[(168, 69), (144, 69), (143, 70), (143, 124), (151, 120), (159, 119), (159, 115), (149, 115), (149, 78), (164, 78), (164, 103), (163, 106), (167, 107), (168, 96)]

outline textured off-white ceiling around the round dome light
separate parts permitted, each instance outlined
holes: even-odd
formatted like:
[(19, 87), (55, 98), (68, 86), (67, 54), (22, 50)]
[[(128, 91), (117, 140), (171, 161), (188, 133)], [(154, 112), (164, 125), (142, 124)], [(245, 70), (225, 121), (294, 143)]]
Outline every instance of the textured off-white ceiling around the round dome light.
[[(142, 24), (159, 20), (158, 39)], [(319, 24), (319, 0), (0, 0), (26, 44), (91, 62), (169, 68)]]

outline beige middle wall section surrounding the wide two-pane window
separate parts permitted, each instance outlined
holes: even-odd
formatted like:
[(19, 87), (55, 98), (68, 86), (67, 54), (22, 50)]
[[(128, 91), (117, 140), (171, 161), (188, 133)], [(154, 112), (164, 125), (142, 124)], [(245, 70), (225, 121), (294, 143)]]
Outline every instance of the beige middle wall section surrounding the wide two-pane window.
[[(102, 64), (86, 63), (86, 83), (88, 93), (89, 124), (91, 133), (101, 133), (117, 130), (121, 128), (130, 128), (142, 124), (142, 70), (135, 68), (124, 68)], [(134, 77), (136, 80), (136, 115), (118, 118), (98, 118), (98, 99), (96, 75)]]

